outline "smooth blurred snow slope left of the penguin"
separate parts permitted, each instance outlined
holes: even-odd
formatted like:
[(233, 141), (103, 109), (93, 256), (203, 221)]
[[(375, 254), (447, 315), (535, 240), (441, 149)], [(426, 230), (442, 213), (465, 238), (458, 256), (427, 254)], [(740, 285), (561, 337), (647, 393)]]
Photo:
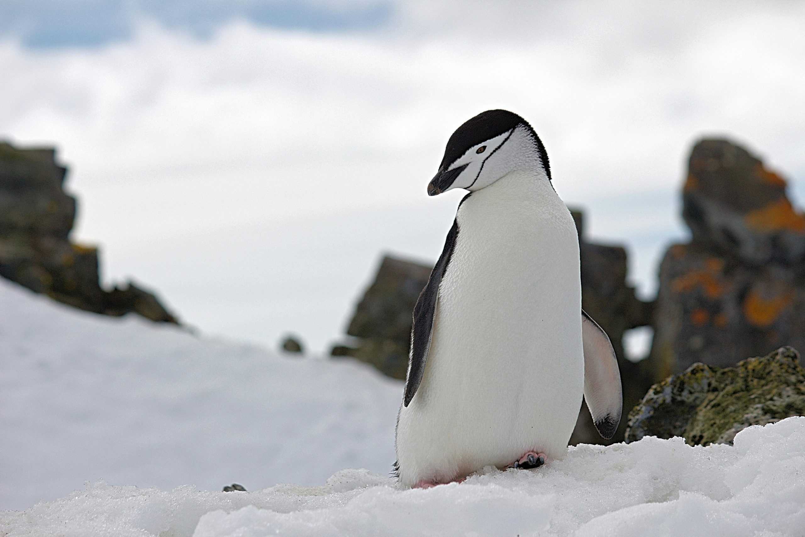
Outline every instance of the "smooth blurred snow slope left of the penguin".
[(0, 279), (0, 509), (98, 479), (221, 490), (388, 473), (402, 397), (357, 361), (80, 312)]

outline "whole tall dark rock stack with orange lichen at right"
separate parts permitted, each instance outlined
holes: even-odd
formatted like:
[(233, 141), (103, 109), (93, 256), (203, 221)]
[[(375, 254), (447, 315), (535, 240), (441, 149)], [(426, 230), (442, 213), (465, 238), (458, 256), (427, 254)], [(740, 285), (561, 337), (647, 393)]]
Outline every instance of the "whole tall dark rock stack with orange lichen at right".
[(658, 381), (701, 361), (733, 366), (805, 346), (805, 215), (786, 182), (727, 140), (691, 152), (683, 188), (691, 242), (659, 271), (651, 351)]

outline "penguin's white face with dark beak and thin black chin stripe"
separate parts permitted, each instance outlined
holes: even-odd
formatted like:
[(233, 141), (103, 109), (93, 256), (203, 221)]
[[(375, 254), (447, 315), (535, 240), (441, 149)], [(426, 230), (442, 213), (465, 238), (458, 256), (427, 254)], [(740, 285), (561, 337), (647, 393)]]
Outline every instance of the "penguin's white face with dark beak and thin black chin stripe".
[[(453, 188), (474, 192), (488, 187), (510, 171), (533, 166), (535, 159), (539, 163), (528, 130), (517, 126), (470, 147), (447, 170), (436, 175), (428, 186), (428, 193), (433, 196)], [(451, 178), (452, 182), (449, 182)]]

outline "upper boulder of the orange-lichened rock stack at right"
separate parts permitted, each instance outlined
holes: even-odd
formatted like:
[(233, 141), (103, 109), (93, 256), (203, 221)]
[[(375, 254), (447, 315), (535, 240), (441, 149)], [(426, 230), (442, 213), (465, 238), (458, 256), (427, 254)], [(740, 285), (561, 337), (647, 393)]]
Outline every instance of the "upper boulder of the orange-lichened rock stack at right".
[(786, 181), (728, 140), (702, 140), (693, 148), (683, 217), (693, 242), (742, 262), (805, 260), (805, 215), (786, 197)]

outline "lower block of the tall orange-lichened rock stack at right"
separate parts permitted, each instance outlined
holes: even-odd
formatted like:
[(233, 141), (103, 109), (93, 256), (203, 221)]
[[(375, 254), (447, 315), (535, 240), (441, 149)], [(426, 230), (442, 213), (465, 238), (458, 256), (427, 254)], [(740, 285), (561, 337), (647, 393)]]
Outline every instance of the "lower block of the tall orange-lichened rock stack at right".
[(701, 361), (734, 366), (782, 345), (805, 349), (805, 287), (798, 271), (719, 258), (674, 245), (660, 265), (654, 313), (654, 379)]

